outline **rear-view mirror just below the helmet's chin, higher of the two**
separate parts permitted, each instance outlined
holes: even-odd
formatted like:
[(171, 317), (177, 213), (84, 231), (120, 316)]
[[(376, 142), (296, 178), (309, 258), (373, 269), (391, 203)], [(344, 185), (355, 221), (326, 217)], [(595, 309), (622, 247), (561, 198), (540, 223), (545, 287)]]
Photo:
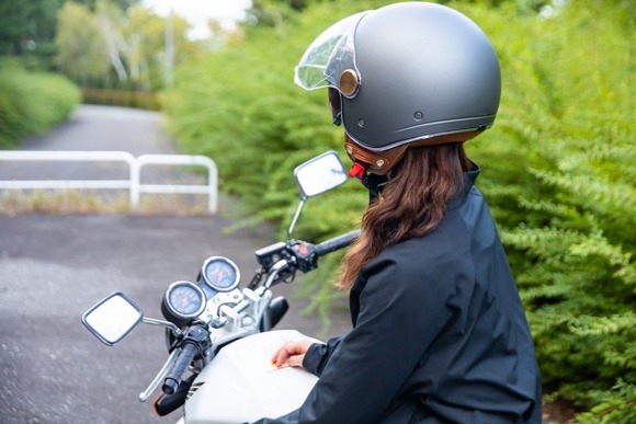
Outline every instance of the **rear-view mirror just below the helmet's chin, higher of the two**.
[(303, 199), (336, 188), (348, 177), (342, 162), (333, 150), (296, 167), (294, 176)]

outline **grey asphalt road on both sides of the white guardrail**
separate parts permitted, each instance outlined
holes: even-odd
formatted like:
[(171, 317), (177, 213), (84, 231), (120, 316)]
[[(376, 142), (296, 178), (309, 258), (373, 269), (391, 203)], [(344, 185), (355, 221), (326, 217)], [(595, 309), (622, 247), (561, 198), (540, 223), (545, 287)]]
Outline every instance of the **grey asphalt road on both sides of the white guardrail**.
[[(81, 106), (68, 123), (22, 148), (126, 150), (135, 156), (174, 151), (160, 115), (102, 106)], [(39, 179), (47, 172), (78, 177), (94, 170), (0, 163), (0, 180), (11, 173)], [(232, 202), (222, 198), (216, 216), (0, 214), (0, 422), (175, 422), (179, 411), (159, 419), (150, 401), (137, 400), (167, 357), (162, 330), (140, 325), (120, 345), (107, 347), (86, 331), (80, 318), (114, 290), (127, 293), (147, 316), (160, 318), (168, 285), (194, 278), (211, 255), (232, 259), (243, 283), (248, 280), (257, 267), (254, 250), (276, 240), (266, 228), (225, 233), (234, 222)], [(302, 285), (302, 278), (295, 284)], [(321, 334), (317, 317), (299, 314), (308, 300), (294, 300), (294, 289), (274, 289), (292, 305), (279, 328), (327, 337), (349, 326), (341, 310)]]

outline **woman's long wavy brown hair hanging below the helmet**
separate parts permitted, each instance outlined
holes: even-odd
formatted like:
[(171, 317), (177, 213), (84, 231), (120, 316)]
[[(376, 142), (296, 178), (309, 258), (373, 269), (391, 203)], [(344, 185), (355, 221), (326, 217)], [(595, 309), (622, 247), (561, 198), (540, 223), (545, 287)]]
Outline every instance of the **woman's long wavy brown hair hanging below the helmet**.
[(362, 217), (362, 233), (342, 260), (337, 286), (350, 289), (360, 270), (387, 245), (435, 229), (469, 168), (461, 142), (407, 149)]

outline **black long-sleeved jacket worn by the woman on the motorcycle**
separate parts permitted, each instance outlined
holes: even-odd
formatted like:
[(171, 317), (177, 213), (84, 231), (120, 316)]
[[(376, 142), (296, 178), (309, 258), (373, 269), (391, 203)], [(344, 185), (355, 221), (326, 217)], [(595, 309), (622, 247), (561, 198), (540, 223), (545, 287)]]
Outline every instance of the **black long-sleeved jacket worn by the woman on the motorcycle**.
[(533, 342), (477, 174), (433, 232), (362, 268), (353, 329), (305, 356), (320, 377), (305, 403), (259, 423), (541, 423)]

